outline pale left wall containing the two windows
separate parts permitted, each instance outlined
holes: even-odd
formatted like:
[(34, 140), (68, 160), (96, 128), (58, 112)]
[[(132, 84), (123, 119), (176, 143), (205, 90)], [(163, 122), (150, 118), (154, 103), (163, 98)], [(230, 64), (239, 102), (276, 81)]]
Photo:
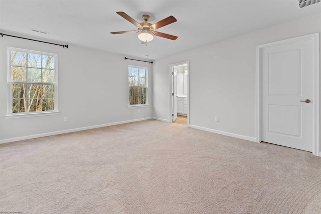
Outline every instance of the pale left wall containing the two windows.
[[(128, 65), (148, 67), (151, 104), (152, 64), (68, 45), (66, 49), (8, 36), (0, 38), (0, 143), (151, 117), (151, 105), (128, 108), (127, 72)], [(58, 115), (5, 119), (8, 46), (58, 54)], [(68, 117), (67, 122), (63, 122), (64, 117)]]

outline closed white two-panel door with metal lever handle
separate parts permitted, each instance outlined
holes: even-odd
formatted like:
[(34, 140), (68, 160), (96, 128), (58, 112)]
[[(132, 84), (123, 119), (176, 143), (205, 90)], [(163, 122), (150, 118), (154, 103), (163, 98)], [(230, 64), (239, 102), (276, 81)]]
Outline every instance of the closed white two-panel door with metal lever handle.
[(261, 140), (312, 151), (312, 40), (285, 41), (262, 49), (261, 56)]

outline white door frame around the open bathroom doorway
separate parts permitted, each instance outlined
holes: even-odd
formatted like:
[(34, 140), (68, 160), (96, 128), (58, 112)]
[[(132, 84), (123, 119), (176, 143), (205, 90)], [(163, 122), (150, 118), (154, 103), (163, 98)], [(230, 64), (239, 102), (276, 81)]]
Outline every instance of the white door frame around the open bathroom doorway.
[(187, 126), (190, 126), (190, 62), (189, 61), (184, 61), (180, 63), (175, 63), (169, 65), (169, 122), (172, 122), (172, 114), (173, 114), (173, 97), (172, 93), (173, 92), (173, 78), (172, 78), (172, 72), (173, 72), (173, 67), (175, 66), (180, 66), (180, 65), (185, 65), (187, 64), (187, 97), (188, 97), (188, 108), (187, 108)]

